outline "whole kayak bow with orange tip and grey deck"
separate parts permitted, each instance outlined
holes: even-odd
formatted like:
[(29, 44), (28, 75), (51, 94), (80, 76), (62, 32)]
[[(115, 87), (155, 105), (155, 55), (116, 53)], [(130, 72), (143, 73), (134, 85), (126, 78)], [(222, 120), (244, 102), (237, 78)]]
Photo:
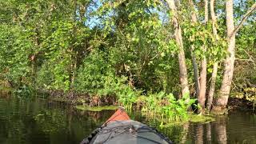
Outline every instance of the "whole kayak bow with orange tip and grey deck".
[(158, 130), (133, 121), (119, 108), (102, 126), (94, 130), (81, 144), (170, 144), (169, 138)]

